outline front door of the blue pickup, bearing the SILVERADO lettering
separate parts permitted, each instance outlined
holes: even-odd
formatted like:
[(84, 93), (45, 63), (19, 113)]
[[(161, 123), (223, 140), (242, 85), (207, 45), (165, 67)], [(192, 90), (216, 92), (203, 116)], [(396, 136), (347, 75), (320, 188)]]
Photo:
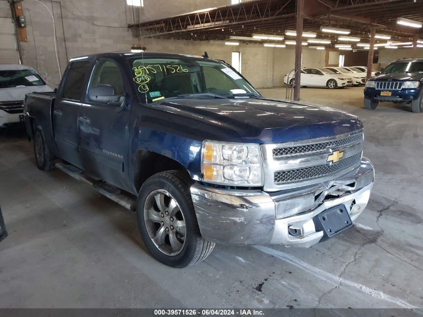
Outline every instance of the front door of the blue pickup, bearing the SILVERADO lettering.
[[(100, 86), (101, 85), (101, 86)], [(96, 61), (88, 85), (87, 96), (78, 117), (78, 150), (83, 168), (117, 187), (131, 190), (128, 177), (128, 140), (130, 111), (123, 69), (112, 59)], [(90, 98), (93, 87), (113, 88), (119, 102), (97, 101)], [(107, 87), (106, 87), (107, 88)], [(118, 98), (117, 98), (118, 99)]]

